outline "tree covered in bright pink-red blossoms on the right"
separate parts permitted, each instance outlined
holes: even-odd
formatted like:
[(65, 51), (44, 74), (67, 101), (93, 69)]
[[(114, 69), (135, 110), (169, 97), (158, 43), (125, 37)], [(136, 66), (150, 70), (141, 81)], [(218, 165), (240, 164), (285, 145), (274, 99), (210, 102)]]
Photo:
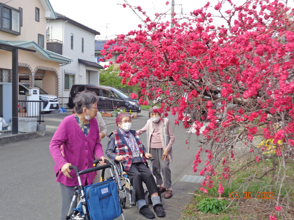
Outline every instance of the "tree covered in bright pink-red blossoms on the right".
[[(223, 9), (224, 4), (230, 9)], [(294, 10), (281, 0), (208, 2), (185, 18), (174, 18), (171, 28), (164, 14), (151, 20), (140, 6), (133, 8), (142, 13), (145, 28), (138, 25), (138, 30), (108, 40), (105, 49), (116, 45), (101, 54), (108, 59), (121, 53), (116, 60), (120, 75), (123, 83), (131, 77), (128, 85), (140, 85), (140, 104), (161, 96), (160, 113), (171, 111), (175, 124), (192, 126), (198, 136), (203, 130), (193, 166), (206, 176), (201, 190), (218, 185), (213, 175), (229, 181), (235, 173), (230, 163), (241, 151), (249, 159), (239, 170), (270, 163), (244, 182), (271, 175), (279, 201), (281, 189), (293, 181), (285, 167), (294, 156)], [(216, 25), (220, 19), (223, 25)], [(253, 136), (261, 132), (265, 142), (256, 147)], [(202, 153), (207, 160), (198, 170)], [(214, 170), (219, 164), (220, 173)]]

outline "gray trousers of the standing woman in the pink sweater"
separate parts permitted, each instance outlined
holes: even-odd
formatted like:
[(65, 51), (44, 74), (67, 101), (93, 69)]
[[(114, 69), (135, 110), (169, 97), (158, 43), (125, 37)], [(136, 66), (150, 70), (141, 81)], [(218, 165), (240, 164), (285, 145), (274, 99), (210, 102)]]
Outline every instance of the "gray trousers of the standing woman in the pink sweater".
[[(156, 177), (156, 184), (160, 185), (164, 183), (164, 188), (171, 187), (171, 169), (169, 168), (169, 160), (162, 160), (163, 148), (150, 148), (150, 153), (153, 160), (153, 175)], [(163, 175), (163, 180), (160, 174), (160, 171)]]

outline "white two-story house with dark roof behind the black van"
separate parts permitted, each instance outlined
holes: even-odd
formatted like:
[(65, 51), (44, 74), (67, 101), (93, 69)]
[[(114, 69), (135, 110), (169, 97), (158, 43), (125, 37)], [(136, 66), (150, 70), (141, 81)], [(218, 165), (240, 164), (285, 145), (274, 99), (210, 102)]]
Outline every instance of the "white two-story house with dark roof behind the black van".
[[(56, 16), (47, 21), (47, 50), (73, 60), (59, 68), (59, 95), (69, 97), (73, 84), (99, 84), (99, 70), (103, 66), (94, 61), (95, 35), (100, 33), (60, 13)], [(64, 99), (64, 103), (66, 101)]]

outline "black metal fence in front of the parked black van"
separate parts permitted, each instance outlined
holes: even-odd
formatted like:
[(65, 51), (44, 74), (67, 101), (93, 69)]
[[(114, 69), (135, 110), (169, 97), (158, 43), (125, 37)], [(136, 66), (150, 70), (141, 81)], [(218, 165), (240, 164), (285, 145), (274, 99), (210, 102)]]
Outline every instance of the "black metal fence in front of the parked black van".
[[(73, 109), (74, 102), (72, 97), (59, 97), (59, 106), (64, 109)], [(99, 111), (113, 111), (114, 109), (122, 109), (126, 112), (130, 110), (132, 112), (141, 112), (141, 106), (138, 104), (138, 100), (134, 99), (118, 99), (118, 98), (106, 98), (99, 97), (97, 103), (97, 108)]]

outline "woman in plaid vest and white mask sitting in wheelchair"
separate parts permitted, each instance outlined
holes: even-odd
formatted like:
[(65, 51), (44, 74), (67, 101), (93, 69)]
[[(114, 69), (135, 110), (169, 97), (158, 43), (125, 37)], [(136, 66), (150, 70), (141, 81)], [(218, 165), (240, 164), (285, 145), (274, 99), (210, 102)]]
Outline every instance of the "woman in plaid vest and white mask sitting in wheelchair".
[(117, 130), (109, 135), (106, 155), (113, 161), (124, 160), (123, 170), (136, 192), (136, 201), (140, 214), (145, 218), (154, 218), (155, 215), (145, 202), (143, 182), (146, 184), (153, 209), (158, 217), (164, 217), (165, 211), (158, 196), (156, 182), (151, 171), (146, 167), (146, 158), (151, 158), (142, 144), (135, 130), (130, 130), (132, 126), (131, 115), (121, 113), (116, 117)]

